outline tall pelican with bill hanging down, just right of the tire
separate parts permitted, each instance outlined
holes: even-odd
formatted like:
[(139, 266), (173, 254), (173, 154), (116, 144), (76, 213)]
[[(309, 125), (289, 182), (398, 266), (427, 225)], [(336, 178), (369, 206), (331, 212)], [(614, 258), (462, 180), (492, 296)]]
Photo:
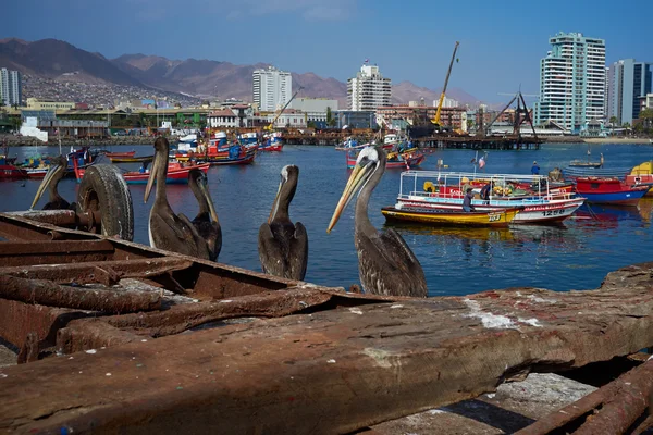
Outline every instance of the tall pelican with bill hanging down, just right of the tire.
[(150, 210), (149, 239), (153, 248), (165, 249), (186, 256), (209, 259), (207, 243), (197, 233), (193, 223), (183, 213), (175, 214), (165, 196), (165, 177), (168, 175), (168, 153), (170, 144), (164, 137), (155, 141), (155, 158), (145, 187), (147, 202), (152, 185), (157, 182), (155, 204)]

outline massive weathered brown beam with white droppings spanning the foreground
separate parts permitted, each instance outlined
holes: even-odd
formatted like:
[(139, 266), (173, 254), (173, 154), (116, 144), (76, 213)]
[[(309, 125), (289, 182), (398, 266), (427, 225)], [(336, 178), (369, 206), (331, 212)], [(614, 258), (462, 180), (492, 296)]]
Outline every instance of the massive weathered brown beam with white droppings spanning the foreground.
[(3, 369), (0, 427), (346, 433), (648, 347), (651, 271), (620, 273), (617, 290), (349, 307)]

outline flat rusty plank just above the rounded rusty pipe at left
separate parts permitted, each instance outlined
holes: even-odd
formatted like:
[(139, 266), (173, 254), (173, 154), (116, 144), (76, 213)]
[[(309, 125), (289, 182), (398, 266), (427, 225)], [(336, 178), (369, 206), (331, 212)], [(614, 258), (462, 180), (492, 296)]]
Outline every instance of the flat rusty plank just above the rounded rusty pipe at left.
[[(49, 279), (54, 283), (112, 285), (121, 278), (153, 277), (168, 272), (183, 271), (193, 262), (177, 258), (138, 259), (132, 261), (103, 261), (34, 266), (0, 268), (0, 274), (29, 279)], [(114, 284), (114, 283), (113, 283)]]

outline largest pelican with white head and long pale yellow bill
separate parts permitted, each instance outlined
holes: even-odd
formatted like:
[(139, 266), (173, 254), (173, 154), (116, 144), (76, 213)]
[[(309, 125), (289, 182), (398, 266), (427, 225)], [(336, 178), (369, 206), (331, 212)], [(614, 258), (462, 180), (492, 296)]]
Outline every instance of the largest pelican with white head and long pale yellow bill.
[(368, 217), (370, 195), (384, 172), (385, 153), (381, 149), (366, 147), (360, 151), (326, 233), (360, 190), (354, 216), (354, 244), (362, 288), (378, 295), (427, 297), (424, 272), (408, 245), (393, 228), (378, 232)]

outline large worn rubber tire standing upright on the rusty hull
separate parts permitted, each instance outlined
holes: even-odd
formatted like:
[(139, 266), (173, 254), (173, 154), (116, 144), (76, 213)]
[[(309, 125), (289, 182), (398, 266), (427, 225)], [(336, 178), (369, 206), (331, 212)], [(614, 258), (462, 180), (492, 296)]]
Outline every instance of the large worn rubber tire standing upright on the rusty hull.
[(77, 208), (82, 212), (91, 209), (101, 213), (102, 235), (134, 239), (132, 194), (115, 166), (97, 164), (86, 169), (77, 191)]

